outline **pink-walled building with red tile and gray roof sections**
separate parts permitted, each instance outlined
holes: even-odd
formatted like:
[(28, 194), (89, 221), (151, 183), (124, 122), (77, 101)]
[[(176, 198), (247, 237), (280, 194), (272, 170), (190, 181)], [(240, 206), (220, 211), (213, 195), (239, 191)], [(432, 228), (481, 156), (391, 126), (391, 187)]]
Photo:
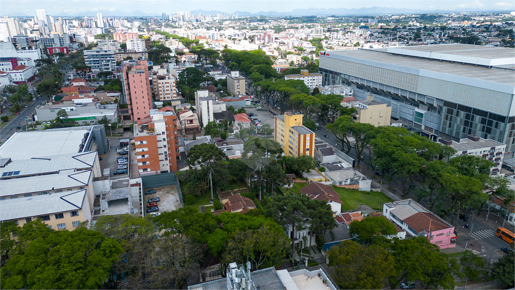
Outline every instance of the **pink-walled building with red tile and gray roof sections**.
[(440, 249), (453, 248), (454, 226), (427, 210), (414, 200), (406, 199), (383, 204), (383, 215), (406, 230), (410, 236), (427, 237)]

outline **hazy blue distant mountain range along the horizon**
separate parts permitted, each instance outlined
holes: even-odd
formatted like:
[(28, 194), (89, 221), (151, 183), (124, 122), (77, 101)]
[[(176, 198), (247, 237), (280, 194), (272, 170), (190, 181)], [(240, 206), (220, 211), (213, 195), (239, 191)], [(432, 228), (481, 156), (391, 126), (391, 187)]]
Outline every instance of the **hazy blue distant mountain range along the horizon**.
[[(190, 13), (193, 15), (199, 15), (200, 13), (202, 15), (216, 15), (216, 14), (222, 14), (224, 15), (230, 15), (230, 14), (238, 14), (238, 17), (301, 17), (301, 16), (311, 16), (311, 15), (321, 15), (321, 16), (331, 16), (331, 15), (385, 15), (385, 14), (421, 14), (421, 13), (461, 13), (462, 11), (465, 12), (510, 12), (510, 10), (493, 10), (493, 9), (466, 9), (466, 10), (421, 10), (421, 9), (406, 9), (406, 8), (391, 8), (391, 7), (369, 7), (369, 8), (310, 8), (310, 9), (295, 9), (290, 12), (277, 12), (277, 11), (260, 11), (256, 13), (250, 13), (246, 11), (235, 11), (232, 13), (224, 12), (224, 11), (218, 11), (218, 10), (194, 10), (190, 11)], [(98, 10), (98, 11), (87, 11), (87, 12), (80, 12), (80, 13), (74, 13), (74, 14), (68, 14), (68, 13), (59, 13), (59, 14), (50, 14), (53, 17), (96, 17), (96, 14), (100, 12), (102, 13), (103, 17), (159, 17), (161, 13), (144, 13), (142, 11), (136, 10), (132, 12), (124, 12), (120, 10)], [(168, 13), (166, 14), (174, 14), (174, 13)], [(27, 15), (25, 13), (9, 13), (10, 17), (33, 17), (33, 15)]]

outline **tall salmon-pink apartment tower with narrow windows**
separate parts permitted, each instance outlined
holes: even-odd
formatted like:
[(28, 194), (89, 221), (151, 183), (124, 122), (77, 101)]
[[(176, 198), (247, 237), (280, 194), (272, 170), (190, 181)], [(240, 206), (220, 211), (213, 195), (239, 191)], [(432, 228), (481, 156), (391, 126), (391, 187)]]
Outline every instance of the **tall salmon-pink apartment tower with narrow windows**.
[[(152, 93), (148, 78), (147, 61), (125, 62), (122, 78), (132, 120), (138, 121), (149, 116), (150, 109), (152, 109)], [(127, 117), (124, 116), (124, 120), (127, 120)]]

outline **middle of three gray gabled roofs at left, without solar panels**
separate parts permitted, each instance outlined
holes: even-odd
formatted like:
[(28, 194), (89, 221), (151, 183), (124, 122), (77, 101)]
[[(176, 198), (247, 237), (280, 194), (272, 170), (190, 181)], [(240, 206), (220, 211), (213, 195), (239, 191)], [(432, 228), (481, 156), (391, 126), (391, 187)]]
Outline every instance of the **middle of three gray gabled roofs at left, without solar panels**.
[(56, 174), (28, 176), (25, 178), (0, 180), (0, 196), (32, 194), (71, 187), (87, 186), (91, 170), (65, 170)]

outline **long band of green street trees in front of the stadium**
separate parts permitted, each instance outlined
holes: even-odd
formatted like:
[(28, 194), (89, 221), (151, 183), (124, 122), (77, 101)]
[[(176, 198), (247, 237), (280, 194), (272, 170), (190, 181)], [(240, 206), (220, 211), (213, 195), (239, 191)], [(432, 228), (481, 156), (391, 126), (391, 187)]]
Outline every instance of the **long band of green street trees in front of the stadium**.
[[(303, 105), (306, 106), (306, 102)], [(453, 148), (405, 128), (354, 123), (348, 115), (340, 116), (327, 128), (336, 135), (347, 153), (355, 150), (358, 164), (364, 150), (368, 150), (371, 158), (367, 162), (390, 186), (397, 181), (404, 196), (413, 190), (415, 177), (422, 176), (422, 188), (413, 192), (416, 198), (427, 199), (429, 209), (436, 213), (442, 213), (447, 205), (445, 209), (452, 214), (452, 223), (464, 208), (478, 213), (485, 211), (483, 205), (488, 201), (488, 195), (484, 190), (492, 191), (493, 196), (504, 197), (507, 204), (513, 200), (508, 181), (491, 176), (492, 163), (482, 156), (454, 156)], [(350, 136), (355, 143), (349, 141)]]

